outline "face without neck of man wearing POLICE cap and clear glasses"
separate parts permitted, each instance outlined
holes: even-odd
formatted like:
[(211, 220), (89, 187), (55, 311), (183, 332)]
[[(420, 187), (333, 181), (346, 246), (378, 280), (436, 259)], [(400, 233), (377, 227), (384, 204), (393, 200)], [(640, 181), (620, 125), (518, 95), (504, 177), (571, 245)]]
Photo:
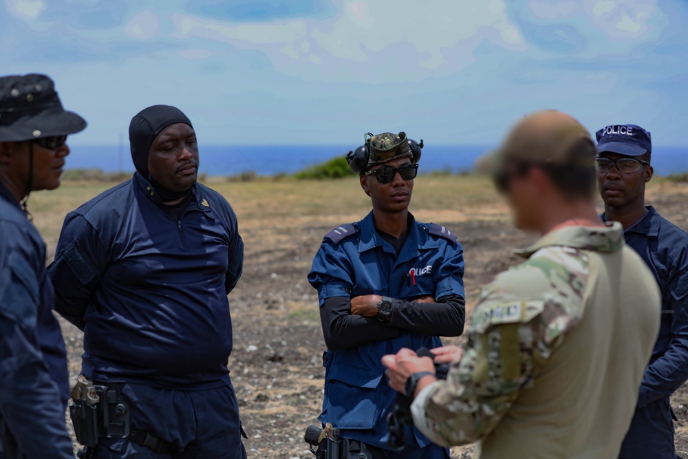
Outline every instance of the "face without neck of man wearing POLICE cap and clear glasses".
[[(618, 160), (621, 158), (634, 158), (632, 156), (620, 155), (605, 151), (599, 153), (599, 158)], [(636, 159), (648, 160), (647, 155), (638, 156)], [(619, 209), (634, 203), (638, 200), (645, 203), (645, 184), (652, 178), (654, 169), (652, 166), (641, 164), (641, 167), (634, 172), (621, 173), (619, 168), (614, 166), (608, 171), (597, 171), (597, 188), (599, 189), (605, 206), (612, 209)]]

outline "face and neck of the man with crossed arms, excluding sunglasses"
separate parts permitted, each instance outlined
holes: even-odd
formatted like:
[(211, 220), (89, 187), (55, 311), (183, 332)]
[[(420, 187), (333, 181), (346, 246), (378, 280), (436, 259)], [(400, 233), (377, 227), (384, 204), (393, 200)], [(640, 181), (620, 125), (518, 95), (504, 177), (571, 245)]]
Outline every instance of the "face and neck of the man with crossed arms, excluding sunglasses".
[[(409, 158), (400, 158), (385, 162), (370, 170), (384, 167), (402, 167), (411, 164)], [(361, 188), (373, 204), (375, 227), (394, 237), (400, 237), (406, 231), (409, 215), (409, 204), (413, 193), (413, 180), (404, 180), (399, 173), (390, 183), (380, 183), (375, 175), (361, 174)]]

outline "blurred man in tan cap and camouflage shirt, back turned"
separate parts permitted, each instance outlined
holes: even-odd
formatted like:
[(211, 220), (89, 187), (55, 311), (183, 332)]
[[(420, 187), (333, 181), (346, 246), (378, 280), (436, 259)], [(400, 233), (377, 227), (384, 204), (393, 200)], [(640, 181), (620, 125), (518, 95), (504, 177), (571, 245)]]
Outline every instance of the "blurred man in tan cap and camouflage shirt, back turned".
[(383, 358), (392, 387), (422, 372), (413, 421), (439, 445), (480, 440), (479, 458), (614, 458), (659, 328), (660, 295), (621, 224), (593, 205), (595, 147), (557, 111), (524, 118), (495, 182), (515, 225), (543, 237), (484, 288), (463, 348), (436, 381), (411, 350)]

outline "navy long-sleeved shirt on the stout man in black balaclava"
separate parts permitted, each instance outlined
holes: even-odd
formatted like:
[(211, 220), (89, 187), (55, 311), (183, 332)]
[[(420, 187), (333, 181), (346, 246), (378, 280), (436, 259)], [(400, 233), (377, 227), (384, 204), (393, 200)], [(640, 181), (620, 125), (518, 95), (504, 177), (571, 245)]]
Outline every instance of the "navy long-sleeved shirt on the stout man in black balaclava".
[(179, 219), (138, 172), (65, 219), (49, 267), (56, 310), (83, 328), (96, 381), (201, 390), (229, 383), (227, 294), (244, 261), (234, 211), (195, 184)]

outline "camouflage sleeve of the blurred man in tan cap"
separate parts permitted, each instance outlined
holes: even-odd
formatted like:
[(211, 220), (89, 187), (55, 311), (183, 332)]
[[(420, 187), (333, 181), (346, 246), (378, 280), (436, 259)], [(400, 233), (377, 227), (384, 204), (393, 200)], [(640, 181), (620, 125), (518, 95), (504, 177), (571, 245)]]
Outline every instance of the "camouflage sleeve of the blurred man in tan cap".
[(416, 427), (443, 446), (489, 434), (579, 322), (586, 275), (585, 255), (569, 248), (499, 275), (475, 306), (462, 359), (413, 402)]

